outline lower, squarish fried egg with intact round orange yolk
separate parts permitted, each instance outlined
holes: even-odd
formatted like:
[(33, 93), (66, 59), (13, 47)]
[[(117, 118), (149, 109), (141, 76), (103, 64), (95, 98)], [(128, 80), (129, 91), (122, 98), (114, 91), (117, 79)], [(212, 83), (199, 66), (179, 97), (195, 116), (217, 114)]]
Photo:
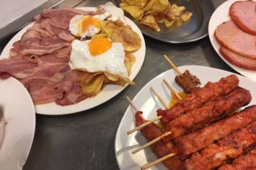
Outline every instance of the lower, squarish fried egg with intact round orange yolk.
[(120, 42), (111, 42), (108, 38), (95, 38), (87, 41), (72, 41), (69, 66), (71, 70), (90, 73), (106, 72), (111, 75), (128, 78), (124, 64), (124, 47)]

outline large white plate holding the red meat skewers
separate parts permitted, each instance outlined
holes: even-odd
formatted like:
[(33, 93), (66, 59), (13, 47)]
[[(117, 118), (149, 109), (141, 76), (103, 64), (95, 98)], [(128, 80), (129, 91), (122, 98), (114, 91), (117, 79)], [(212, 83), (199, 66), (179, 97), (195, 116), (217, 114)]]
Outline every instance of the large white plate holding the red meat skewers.
[[(202, 66), (183, 66), (179, 67), (181, 72), (189, 70), (192, 74), (197, 75), (200, 79), (202, 86), (208, 81), (219, 81), (220, 78), (232, 75), (234, 73), (218, 70), (216, 68), (202, 67)], [(152, 119), (156, 117), (156, 110), (161, 108), (160, 102), (150, 92), (150, 87), (153, 87), (163, 98), (164, 101), (170, 101), (171, 96), (169, 90), (164, 86), (163, 79), (166, 79), (176, 89), (176, 91), (182, 91), (181, 87), (177, 86), (174, 82), (174, 78), (177, 73), (174, 70), (168, 70), (161, 75), (156, 76), (149, 83), (147, 83), (134, 97), (133, 102), (137, 108), (143, 111), (143, 117), (145, 119)], [(249, 105), (256, 104), (256, 82), (244, 76), (237, 75), (239, 78), (239, 86), (248, 89), (252, 94), (252, 101)], [(127, 102), (128, 103), (128, 102)], [(146, 139), (140, 134), (140, 132), (134, 132), (129, 136), (127, 131), (135, 127), (134, 124), (135, 111), (129, 106), (122, 117), (121, 123), (116, 132), (116, 140), (114, 144), (116, 160), (120, 169), (139, 169), (143, 164), (150, 161), (155, 161), (157, 158), (151, 152), (150, 148), (144, 149), (135, 155), (132, 155), (131, 151), (140, 145), (146, 144)], [(157, 164), (151, 169), (166, 169), (163, 164)]]

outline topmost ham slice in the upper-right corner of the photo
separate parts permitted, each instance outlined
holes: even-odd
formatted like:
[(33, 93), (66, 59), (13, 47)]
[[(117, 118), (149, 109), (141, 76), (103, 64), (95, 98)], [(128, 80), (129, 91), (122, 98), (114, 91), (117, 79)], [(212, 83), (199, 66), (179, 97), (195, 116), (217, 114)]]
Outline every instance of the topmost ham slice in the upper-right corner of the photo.
[(256, 35), (256, 2), (234, 2), (229, 9), (229, 15), (242, 30)]

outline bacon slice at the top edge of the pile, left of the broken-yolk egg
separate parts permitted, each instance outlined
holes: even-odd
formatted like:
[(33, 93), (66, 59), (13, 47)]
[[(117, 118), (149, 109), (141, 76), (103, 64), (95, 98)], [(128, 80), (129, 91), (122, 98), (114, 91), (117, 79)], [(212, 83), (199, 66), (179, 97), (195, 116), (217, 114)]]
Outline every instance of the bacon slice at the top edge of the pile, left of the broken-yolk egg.
[(69, 7), (63, 7), (61, 9), (45, 9), (43, 10), (41, 17), (50, 18), (51, 25), (67, 29), (69, 28), (69, 21), (75, 15), (95, 15), (96, 12), (84, 11), (79, 9), (73, 9)]

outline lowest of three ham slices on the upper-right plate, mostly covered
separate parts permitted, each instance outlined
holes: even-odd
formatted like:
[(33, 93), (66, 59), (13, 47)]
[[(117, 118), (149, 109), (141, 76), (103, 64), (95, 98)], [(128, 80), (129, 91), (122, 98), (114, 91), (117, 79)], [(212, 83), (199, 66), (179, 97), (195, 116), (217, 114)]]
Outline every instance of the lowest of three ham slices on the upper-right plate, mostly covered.
[(247, 70), (256, 70), (256, 59), (250, 59), (230, 51), (226, 47), (220, 47), (220, 53), (233, 65)]

